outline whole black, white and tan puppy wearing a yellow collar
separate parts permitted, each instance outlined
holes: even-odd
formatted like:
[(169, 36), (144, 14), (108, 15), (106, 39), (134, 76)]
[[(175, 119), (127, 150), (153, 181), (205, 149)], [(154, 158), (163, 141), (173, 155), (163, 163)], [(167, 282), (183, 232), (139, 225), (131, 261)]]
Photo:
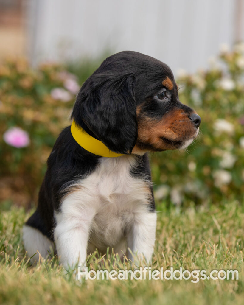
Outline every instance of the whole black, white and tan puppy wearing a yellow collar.
[(23, 228), (28, 255), (46, 257), (54, 247), (68, 268), (85, 266), (95, 249), (130, 248), (150, 262), (156, 212), (146, 152), (185, 148), (200, 117), (179, 101), (166, 64), (125, 51), (84, 82), (72, 119), (74, 132), (69, 126), (59, 135), (37, 210)]

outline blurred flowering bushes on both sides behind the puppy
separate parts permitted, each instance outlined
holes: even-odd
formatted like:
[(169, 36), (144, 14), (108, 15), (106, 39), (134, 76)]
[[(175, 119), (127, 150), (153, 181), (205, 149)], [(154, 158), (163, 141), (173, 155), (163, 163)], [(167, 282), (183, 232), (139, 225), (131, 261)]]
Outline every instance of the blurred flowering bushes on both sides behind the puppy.
[[(1, 201), (30, 206), (37, 199), (48, 155), (96, 66), (0, 65)], [(186, 206), (243, 199), (244, 44), (223, 49), (206, 71), (181, 72), (178, 84), (181, 102), (202, 118), (201, 132), (185, 151), (152, 154), (156, 199)]]

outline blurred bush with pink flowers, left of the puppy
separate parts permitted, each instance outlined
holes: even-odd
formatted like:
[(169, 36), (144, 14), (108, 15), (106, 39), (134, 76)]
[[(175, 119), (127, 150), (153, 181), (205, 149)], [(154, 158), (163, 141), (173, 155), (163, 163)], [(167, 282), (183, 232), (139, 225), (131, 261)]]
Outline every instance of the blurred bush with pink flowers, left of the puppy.
[(0, 200), (30, 205), (79, 90), (62, 66), (37, 70), (23, 60), (0, 65)]

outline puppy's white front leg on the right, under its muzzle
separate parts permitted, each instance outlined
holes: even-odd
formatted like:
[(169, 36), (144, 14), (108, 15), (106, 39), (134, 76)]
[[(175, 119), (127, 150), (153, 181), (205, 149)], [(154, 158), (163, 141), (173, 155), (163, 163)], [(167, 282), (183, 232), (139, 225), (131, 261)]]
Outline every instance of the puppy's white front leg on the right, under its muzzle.
[(151, 262), (156, 232), (156, 212), (144, 212), (135, 215), (135, 221), (127, 235), (127, 246), (131, 249), (129, 258), (136, 264), (145, 258)]

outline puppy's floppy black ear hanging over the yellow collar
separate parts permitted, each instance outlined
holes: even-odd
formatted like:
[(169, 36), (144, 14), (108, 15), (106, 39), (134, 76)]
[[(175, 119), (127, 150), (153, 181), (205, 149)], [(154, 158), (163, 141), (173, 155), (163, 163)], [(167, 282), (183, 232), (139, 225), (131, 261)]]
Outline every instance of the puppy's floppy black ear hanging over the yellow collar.
[(92, 74), (77, 95), (72, 117), (81, 120), (110, 150), (130, 154), (137, 139), (135, 80)]

